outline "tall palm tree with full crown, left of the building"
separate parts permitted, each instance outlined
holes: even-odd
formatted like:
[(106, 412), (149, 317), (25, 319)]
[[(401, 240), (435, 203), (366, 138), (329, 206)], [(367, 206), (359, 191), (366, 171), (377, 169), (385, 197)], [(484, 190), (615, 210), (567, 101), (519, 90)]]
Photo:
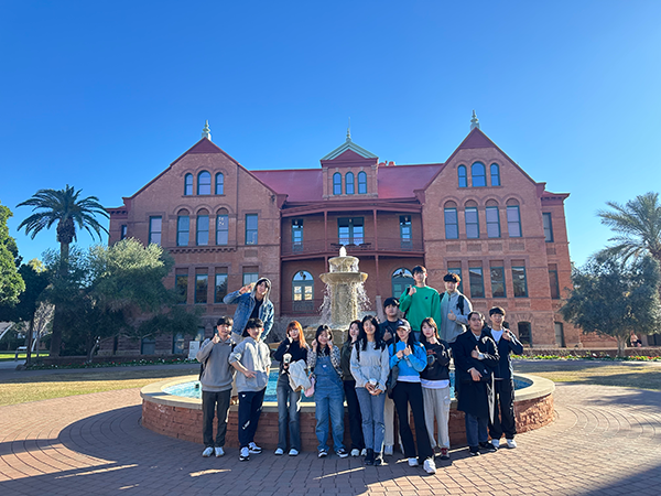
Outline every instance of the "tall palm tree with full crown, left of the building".
[[(75, 191), (68, 184), (64, 190), (40, 190), (30, 200), (18, 206), (32, 206), (34, 212), (19, 226), (19, 230), (25, 228), (32, 239), (43, 229), (50, 229), (57, 223), (57, 242), (59, 242), (59, 272), (58, 277), (68, 273), (69, 245), (76, 240), (76, 226), (78, 229), (87, 230), (93, 239), (95, 234), (101, 239), (101, 230), (108, 233), (95, 218), (96, 215), (109, 217), (104, 206), (96, 196), (78, 198), (80, 191)], [(53, 336), (51, 341), (51, 355), (59, 355), (62, 341), (62, 328), (58, 325), (57, 312), (53, 322)]]

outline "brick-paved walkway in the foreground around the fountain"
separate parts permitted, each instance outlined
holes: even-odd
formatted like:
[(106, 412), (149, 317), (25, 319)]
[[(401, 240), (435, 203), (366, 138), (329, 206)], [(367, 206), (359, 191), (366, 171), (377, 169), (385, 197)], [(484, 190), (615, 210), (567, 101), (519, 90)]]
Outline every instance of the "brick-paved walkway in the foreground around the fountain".
[(559, 385), (557, 420), (517, 438), (517, 450), (478, 459), (453, 450), (427, 476), (399, 456), (379, 468), (358, 459), (203, 446), (140, 427), (138, 389), (0, 408), (0, 494), (658, 495), (661, 392)]

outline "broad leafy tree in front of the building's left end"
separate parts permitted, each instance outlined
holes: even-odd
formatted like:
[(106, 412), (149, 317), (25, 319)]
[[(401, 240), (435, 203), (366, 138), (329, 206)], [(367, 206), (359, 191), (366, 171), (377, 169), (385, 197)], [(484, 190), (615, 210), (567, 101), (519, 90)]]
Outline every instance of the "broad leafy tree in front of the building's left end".
[[(51, 268), (58, 267), (55, 252), (45, 259)], [(96, 246), (87, 254), (72, 250), (67, 278), (54, 278), (47, 296), (62, 309), (65, 353), (91, 360), (101, 341), (120, 334), (138, 337), (175, 328), (194, 333), (198, 315), (176, 308), (174, 291), (163, 284), (173, 266), (161, 247), (134, 239)]]

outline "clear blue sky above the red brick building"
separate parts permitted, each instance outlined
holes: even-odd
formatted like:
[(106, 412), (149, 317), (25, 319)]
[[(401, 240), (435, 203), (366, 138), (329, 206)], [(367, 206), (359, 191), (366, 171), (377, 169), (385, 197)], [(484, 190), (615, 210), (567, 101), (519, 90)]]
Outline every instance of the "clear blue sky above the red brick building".
[(610, 236), (606, 201), (661, 190), (660, 20), (659, 1), (4, 1), (0, 202), (29, 260), (55, 229), (17, 233), (18, 203), (68, 183), (119, 206), (205, 119), (259, 170), (318, 166), (348, 117), (381, 160), (443, 162), (475, 109), (535, 181), (571, 193), (583, 263)]

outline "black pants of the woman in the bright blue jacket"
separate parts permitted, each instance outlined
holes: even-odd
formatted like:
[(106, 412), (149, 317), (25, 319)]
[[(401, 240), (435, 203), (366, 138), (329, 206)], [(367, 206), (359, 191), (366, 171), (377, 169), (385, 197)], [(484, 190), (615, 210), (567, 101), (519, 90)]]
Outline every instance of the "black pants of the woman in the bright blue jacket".
[(434, 457), (434, 450), (430, 442), (430, 436), (424, 422), (424, 403), (422, 400), (422, 386), (420, 382), (397, 382), (392, 390), (392, 400), (397, 410), (397, 418), (400, 425), (400, 435), (404, 445), (404, 456), (407, 459), (415, 457), (415, 443), (413, 442), (413, 432), (409, 424), (409, 409), (413, 412), (415, 422), (415, 440), (418, 442), (418, 459), (423, 462), (426, 459)]

